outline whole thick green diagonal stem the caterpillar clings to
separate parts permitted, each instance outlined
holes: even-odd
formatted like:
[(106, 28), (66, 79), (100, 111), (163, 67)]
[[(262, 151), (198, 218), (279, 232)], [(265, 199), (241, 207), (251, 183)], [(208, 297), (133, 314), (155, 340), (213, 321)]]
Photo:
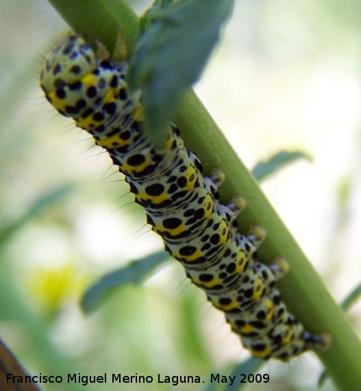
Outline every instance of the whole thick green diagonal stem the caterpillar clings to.
[[(114, 48), (114, 36), (119, 31), (116, 26), (121, 26), (124, 36), (127, 34), (128, 51), (132, 51), (138, 35), (138, 20), (123, 1), (49, 2), (76, 31), (99, 38), (110, 50)], [(241, 194), (247, 201), (247, 210), (239, 218), (240, 230), (247, 231), (251, 224), (258, 224), (266, 229), (268, 236), (258, 251), (260, 260), (269, 262), (276, 255), (288, 260), (290, 272), (279, 281), (284, 301), (310, 331), (327, 331), (331, 334), (330, 348), (315, 353), (339, 390), (357, 390), (361, 384), (360, 340), (256, 181), (191, 90), (182, 101), (175, 123), (179, 126), (188, 149), (195, 151), (202, 162), (207, 162), (207, 166), (218, 166), (227, 175), (226, 186), (221, 188), (223, 201), (234, 194)], [(306, 205), (299, 207), (304, 207), (307, 212)]]

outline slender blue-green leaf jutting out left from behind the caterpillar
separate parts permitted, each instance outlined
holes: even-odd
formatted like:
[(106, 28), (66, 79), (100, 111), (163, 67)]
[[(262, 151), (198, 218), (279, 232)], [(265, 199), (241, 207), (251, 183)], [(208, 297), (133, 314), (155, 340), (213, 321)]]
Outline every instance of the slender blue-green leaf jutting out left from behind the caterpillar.
[(130, 262), (127, 266), (104, 275), (84, 293), (80, 303), (82, 310), (85, 313), (95, 310), (95, 307), (115, 288), (127, 284), (138, 285), (155, 273), (155, 268), (169, 261), (169, 259), (167, 253), (160, 251), (141, 260)]

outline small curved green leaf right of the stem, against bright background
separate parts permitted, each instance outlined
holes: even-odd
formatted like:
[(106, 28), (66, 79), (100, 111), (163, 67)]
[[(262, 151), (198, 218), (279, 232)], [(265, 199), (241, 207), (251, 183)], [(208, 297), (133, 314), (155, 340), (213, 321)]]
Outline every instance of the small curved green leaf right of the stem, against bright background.
[(265, 177), (279, 170), (279, 168), (299, 159), (312, 160), (310, 155), (302, 151), (280, 151), (271, 156), (269, 160), (256, 164), (251, 172), (256, 181), (262, 181)]

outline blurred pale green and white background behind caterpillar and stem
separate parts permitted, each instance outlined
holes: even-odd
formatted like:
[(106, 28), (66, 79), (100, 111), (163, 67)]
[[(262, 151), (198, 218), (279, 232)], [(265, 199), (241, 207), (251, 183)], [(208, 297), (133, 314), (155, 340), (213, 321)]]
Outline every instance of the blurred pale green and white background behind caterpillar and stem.
[[(131, 3), (138, 13), (149, 5)], [(338, 302), (361, 275), (360, 12), (356, 0), (238, 0), (196, 86), (250, 169), (280, 150), (312, 155), (262, 188)], [(90, 283), (162, 244), (108, 156), (42, 96), (42, 60), (65, 28), (45, 0), (0, 3), (1, 338), (34, 375), (208, 379), (248, 354), (176, 262), (89, 316), (79, 309)], [(349, 316), (360, 333), (360, 305)], [(320, 372), (312, 353), (261, 371), (270, 391), (315, 390)]]

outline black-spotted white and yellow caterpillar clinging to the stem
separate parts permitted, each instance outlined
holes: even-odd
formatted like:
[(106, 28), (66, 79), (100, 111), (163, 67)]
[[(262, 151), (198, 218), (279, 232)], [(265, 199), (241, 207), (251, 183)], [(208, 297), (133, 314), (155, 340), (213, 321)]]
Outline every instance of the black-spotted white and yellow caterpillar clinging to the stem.
[(108, 152), (166, 251), (224, 312), (253, 356), (288, 361), (326, 346), (326, 338), (306, 331), (282, 301), (276, 282), (288, 270), (286, 261), (276, 258), (267, 266), (255, 259), (264, 229), (251, 227), (246, 236), (237, 231), (245, 201), (219, 202), (223, 172), (203, 175), (173, 124), (160, 148), (142, 132), (140, 92), (129, 92), (126, 75), (126, 61), (99, 58), (81, 36), (69, 33), (45, 58), (40, 86), (60, 114)]

